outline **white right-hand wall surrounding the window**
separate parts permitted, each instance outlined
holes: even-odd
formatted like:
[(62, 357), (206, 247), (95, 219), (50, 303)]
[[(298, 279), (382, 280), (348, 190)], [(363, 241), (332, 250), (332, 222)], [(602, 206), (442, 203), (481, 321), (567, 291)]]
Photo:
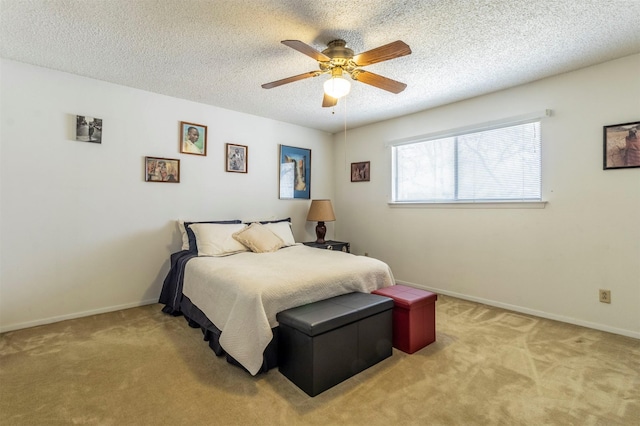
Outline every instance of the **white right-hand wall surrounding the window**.
[[(633, 55), (355, 129), (346, 145), (336, 134), (338, 239), (388, 262), (399, 282), (640, 338), (640, 168), (602, 169), (602, 127), (640, 120), (638, 70)], [(545, 209), (387, 204), (385, 144), (547, 108)], [(350, 182), (357, 161), (371, 161), (370, 182)]]

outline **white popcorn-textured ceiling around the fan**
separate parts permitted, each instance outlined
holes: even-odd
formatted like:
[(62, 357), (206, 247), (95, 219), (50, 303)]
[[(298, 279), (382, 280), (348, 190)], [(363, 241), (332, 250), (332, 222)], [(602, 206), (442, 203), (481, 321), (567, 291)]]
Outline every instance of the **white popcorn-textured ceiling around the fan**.
[[(640, 52), (640, 0), (0, 0), (3, 58), (335, 133)], [(283, 44), (412, 54), (322, 108), (327, 76)], [(640, 72), (640, 71), (639, 71)], [(639, 74), (640, 75), (640, 74)], [(334, 113), (335, 112), (335, 113)]]

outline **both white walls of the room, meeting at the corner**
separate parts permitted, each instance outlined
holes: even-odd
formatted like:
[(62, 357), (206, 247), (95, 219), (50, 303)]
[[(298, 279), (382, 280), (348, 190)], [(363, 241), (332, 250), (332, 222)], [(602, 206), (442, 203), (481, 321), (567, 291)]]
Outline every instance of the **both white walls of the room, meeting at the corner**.
[[(640, 119), (640, 55), (362, 127), (346, 145), (342, 133), (332, 145), (286, 123), (0, 64), (0, 331), (155, 302), (180, 246), (176, 219), (291, 216), (296, 239), (313, 239), (309, 202), (277, 198), (286, 144), (313, 150), (312, 197), (333, 198), (337, 215), (328, 236), (335, 226), (399, 282), (640, 337), (640, 168), (602, 170), (602, 126)], [(545, 108), (545, 209), (387, 204), (386, 143)], [(101, 145), (74, 140), (76, 114), (104, 120)], [(209, 126), (207, 157), (178, 152), (181, 120)], [(224, 172), (226, 142), (249, 146), (248, 174)], [(144, 182), (145, 155), (179, 158), (182, 182)], [(371, 182), (349, 181), (355, 161), (371, 161)]]

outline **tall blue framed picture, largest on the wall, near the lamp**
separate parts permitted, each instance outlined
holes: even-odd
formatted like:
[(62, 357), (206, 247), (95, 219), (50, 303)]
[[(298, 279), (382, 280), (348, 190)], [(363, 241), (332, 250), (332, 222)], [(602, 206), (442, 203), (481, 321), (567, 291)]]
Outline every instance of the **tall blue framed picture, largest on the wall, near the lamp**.
[(280, 145), (280, 199), (311, 198), (311, 150)]

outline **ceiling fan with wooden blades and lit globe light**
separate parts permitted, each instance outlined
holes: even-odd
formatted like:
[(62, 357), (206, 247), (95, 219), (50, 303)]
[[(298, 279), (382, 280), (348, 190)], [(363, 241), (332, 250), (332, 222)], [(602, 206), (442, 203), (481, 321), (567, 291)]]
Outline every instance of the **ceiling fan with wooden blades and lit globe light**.
[(331, 74), (331, 78), (324, 83), (325, 93), (322, 106), (332, 107), (338, 103), (338, 98), (349, 93), (351, 85), (348, 80), (344, 79), (343, 75), (345, 73), (353, 80), (361, 81), (391, 93), (400, 93), (407, 87), (404, 83), (362, 69), (365, 65), (409, 55), (411, 48), (403, 41), (397, 40), (357, 55), (354, 55), (353, 50), (347, 47), (347, 42), (340, 39), (329, 42), (327, 48), (322, 52), (299, 40), (284, 40), (282, 44), (318, 61), (320, 70), (265, 83), (262, 85), (264, 89), (271, 89), (322, 74)]

